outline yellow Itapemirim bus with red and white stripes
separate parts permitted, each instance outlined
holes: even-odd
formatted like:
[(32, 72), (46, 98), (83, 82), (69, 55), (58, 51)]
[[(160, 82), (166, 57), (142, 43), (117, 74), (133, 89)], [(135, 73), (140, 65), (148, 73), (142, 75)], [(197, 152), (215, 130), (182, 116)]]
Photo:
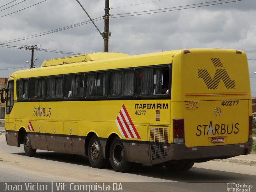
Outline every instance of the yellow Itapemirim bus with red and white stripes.
[(134, 164), (189, 170), (249, 154), (252, 104), (246, 54), (190, 49), (93, 53), (20, 70), (2, 91), (8, 145), (88, 156), (118, 172)]

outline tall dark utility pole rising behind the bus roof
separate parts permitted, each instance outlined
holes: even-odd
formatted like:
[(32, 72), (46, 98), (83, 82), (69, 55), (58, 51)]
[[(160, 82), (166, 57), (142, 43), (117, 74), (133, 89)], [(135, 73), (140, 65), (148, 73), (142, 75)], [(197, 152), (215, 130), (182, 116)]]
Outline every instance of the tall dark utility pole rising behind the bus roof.
[(105, 1), (105, 14), (104, 14), (104, 52), (108, 52), (108, 40), (109, 40), (109, 0)]

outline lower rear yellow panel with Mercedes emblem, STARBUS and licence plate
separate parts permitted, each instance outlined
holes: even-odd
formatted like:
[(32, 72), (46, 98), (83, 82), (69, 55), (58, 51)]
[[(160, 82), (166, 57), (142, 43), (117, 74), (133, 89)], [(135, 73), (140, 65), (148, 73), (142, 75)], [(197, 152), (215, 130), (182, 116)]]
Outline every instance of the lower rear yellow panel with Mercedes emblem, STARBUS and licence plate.
[(184, 102), (185, 145), (216, 146), (248, 141), (248, 100)]

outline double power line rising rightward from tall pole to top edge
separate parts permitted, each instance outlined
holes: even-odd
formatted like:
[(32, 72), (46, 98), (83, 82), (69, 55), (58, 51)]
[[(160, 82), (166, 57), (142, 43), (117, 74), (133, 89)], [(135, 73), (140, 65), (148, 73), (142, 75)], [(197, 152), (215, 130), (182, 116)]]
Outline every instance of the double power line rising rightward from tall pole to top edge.
[[(218, 0), (218, 1), (204, 2), (204, 3), (191, 4), (191, 5), (185, 5), (185, 6), (177, 6), (177, 7), (170, 7), (170, 8), (162, 8), (162, 9), (148, 10), (148, 11), (130, 12), (130, 13), (122, 13), (122, 14), (112, 14), (112, 15), (110, 15), (111, 16), (110, 18), (120, 18), (120, 17), (146, 15), (146, 14), (161, 13), (161, 12), (170, 12), (170, 11), (176, 11), (176, 10), (184, 10), (184, 9), (206, 7), (206, 6), (226, 4), (226, 3), (232, 3), (232, 2), (239, 2), (239, 1), (244, 1), (244, 0), (231, 0), (231, 1), (229, 0), (228, 2), (220, 2), (220, 1), (227, 1), (227, 0)], [(218, 3), (216, 3), (216, 2), (218, 2)], [(194, 5), (207, 4), (207, 3), (212, 3), (212, 4), (194, 6)], [(192, 7), (188, 7), (188, 6), (192, 6)], [(167, 9), (173, 9), (173, 10), (167, 10)], [(162, 11), (160, 11), (160, 10), (162, 10)], [(130, 14), (130, 15), (126, 15), (126, 14)]]

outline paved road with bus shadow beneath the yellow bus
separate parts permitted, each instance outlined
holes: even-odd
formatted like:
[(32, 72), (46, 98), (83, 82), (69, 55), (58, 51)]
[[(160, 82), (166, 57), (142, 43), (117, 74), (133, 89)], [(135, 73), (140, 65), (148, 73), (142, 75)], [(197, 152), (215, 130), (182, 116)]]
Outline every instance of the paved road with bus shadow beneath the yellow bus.
[(118, 173), (111, 167), (92, 168), (86, 157), (78, 155), (38, 150), (36, 157), (27, 157), (23, 146), (7, 146), (3, 134), (0, 182), (121, 182), (124, 192), (226, 192), (228, 182), (250, 182), (253, 192), (256, 166), (209, 161), (196, 163), (189, 171), (169, 172), (163, 167), (142, 166), (130, 173)]

